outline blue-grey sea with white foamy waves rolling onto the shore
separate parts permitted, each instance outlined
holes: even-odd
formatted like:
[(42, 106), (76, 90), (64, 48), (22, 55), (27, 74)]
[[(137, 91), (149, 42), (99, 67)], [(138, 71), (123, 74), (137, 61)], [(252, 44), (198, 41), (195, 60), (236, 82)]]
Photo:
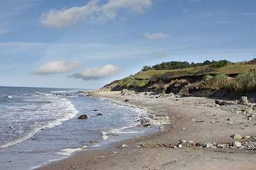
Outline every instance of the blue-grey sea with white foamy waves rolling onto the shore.
[(137, 126), (145, 111), (78, 90), (0, 86), (0, 169), (35, 169), (157, 130)]

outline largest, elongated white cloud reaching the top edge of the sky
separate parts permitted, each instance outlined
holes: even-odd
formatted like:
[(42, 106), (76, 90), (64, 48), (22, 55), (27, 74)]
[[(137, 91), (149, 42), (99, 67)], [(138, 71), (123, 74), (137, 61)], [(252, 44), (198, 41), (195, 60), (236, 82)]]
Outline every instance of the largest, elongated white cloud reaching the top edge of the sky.
[(146, 8), (151, 6), (151, 1), (109, 0), (107, 4), (100, 6), (99, 0), (92, 0), (86, 6), (75, 6), (62, 10), (52, 9), (42, 13), (41, 23), (52, 28), (73, 26), (78, 22), (105, 23), (117, 18), (117, 12), (120, 10), (129, 11), (129, 14), (143, 13)]

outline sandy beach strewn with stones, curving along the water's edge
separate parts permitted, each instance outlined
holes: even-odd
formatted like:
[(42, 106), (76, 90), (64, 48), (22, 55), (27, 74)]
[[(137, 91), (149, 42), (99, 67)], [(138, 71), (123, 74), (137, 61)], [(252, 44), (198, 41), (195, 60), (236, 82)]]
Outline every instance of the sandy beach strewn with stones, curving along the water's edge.
[(78, 152), (38, 169), (256, 169), (253, 103), (120, 92), (91, 94), (144, 109), (153, 119), (146, 128), (154, 120), (169, 124), (114, 143), (116, 149)]

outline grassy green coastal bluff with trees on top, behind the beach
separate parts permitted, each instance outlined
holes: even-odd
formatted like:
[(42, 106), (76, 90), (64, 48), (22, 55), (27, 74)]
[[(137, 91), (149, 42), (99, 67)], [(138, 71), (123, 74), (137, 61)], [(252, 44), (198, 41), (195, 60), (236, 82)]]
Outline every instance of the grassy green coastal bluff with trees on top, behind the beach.
[[(183, 88), (184, 86), (183, 92), (188, 94), (193, 89), (210, 89), (210, 91), (225, 89), (225, 91), (230, 92), (255, 91), (256, 64), (246, 63), (230, 63), (227, 60), (218, 62), (206, 60), (203, 63), (196, 64), (162, 62), (153, 67), (144, 66), (142, 72), (122, 80), (113, 81), (112, 84), (115, 84), (118, 87), (117, 89), (144, 88), (149, 91), (166, 91), (166, 89), (170, 91), (173, 87), (177, 90), (177, 88)], [(182, 85), (181, 82), (186, 82), (189, 86)]]

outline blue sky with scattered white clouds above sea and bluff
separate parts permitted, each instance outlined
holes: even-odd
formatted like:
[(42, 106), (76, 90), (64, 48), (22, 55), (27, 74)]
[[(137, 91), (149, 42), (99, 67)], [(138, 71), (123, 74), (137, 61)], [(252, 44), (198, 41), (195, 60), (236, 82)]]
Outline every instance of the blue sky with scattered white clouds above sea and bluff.
[(255, 0), (1, 0), (0, 86), (98, 89), (161, 62), (256, 57)]

